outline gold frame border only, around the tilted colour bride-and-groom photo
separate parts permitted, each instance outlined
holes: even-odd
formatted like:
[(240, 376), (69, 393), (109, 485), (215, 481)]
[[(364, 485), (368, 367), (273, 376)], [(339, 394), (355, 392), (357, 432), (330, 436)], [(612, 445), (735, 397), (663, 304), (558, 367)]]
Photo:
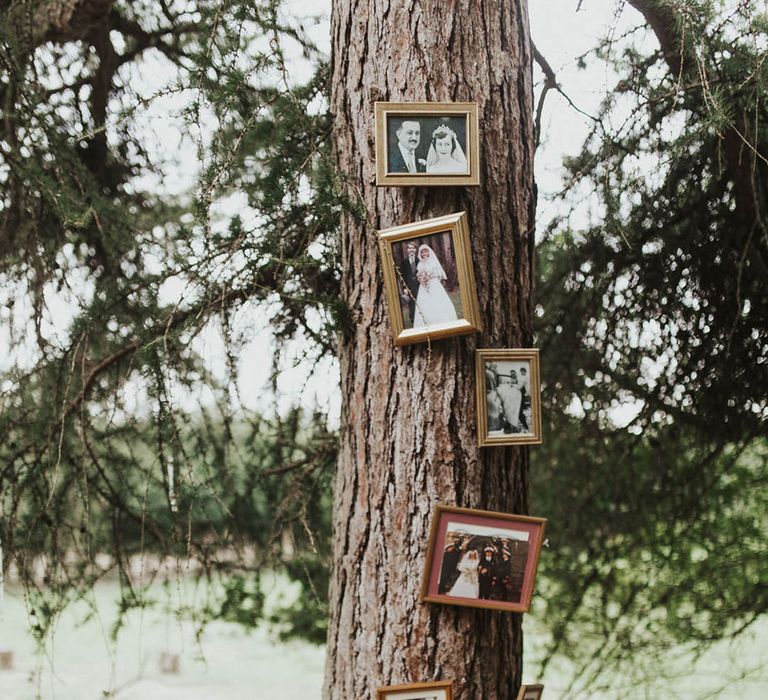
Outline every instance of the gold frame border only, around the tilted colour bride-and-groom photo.
[[(400, 280), (398, 279), (392, 244), (418, 236), (435, 233), (449, 233), (456, 256), (456, 274), (459, 278), (459, 293), (465, 317), (456, 321), (434, 323), (423, 328), (405, 328), (403, 310), (400, 304)], [(466, 212), (456, 212), (434, 219), (425, 219), (401, 226), (381, 229), (379, 253), (384, 268), (384, 293), (389, 307), (389, 320), (395, 345), (410, 345), (425, 341), (439, 340), (454, 335), (468, 335), (483, 330), (480, 321), (480, 305), (477, 300), (475, 271), (470, 257), (469, 227)]]

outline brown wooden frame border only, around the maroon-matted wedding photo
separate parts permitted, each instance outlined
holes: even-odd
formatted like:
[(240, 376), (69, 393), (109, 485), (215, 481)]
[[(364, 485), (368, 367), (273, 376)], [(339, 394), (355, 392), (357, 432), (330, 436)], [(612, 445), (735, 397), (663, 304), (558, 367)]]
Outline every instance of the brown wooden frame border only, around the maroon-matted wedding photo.
[[(529, 540), (530, 549), (528, 550), (528, 559), (526, 561), (526, 572), (528, 572), (528, 564), (530, 565), (530, 572), (527, 574), (527, 580), (523, 578), (523, 589), (520, 593), (519, 603), (505, 603), (503, 601), (482, 601), (474, 600), (472, 598), (455, 598), (448, 595), (441, 595), (438, 593), (430, 594), (429, 588), (432, 582), (433, 573), (432, 567), (435, 564), (434, 556), (437, 549), (437, 542), (440, 533), (440, 526), (443, 520), (443, 516), (450, 516), (450, 514), (460, 516), (477, 516), (479, 518), (493, 518), (496, 520), (506, 520), (509, 522), (525, 523), (528, 525), (539, 526), (538, 537), (533, 537)], [(469, 608), (485, 608), (488, 610), (501, 610), (503, 612), (528, 612), (531, 607), (531, 600), (533, 599), (533, 589), (536, 582), (536, 572), (539, 568), (539, 557), (541, 555), (541, 546), (544, 542), (544, 532), (547, 527), (546, 518), (538, 518), (532, 515), (517, 515), (515, 513), (497, 513), (491, 510), (478, 510), (475, 508), (461, 508), (459, 506), (445, 506), (437, 505), (432, 511), (432, 528), (429, 533), (429, 545), (427, 546), (427, 557), (424, 564), (424, 575), (421, 580), (421, 592), (419, 594), (419, 600), (422, 603), (440, 603), (442, 605), (458, 605), (461, 607)], [(445, 539), (443, 539), (445, 542)], [(442, 560), (441, 560), (442, 561)], [(439, 576), (439, 573), (438, 573)]]

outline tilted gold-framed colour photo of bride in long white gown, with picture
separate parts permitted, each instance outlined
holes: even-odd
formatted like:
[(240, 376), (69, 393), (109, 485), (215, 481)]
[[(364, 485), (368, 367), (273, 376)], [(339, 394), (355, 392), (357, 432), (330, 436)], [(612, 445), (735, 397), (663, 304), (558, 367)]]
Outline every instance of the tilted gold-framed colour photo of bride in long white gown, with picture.
[(464, 212), (378, 233), (395, 345), (482, 330)]

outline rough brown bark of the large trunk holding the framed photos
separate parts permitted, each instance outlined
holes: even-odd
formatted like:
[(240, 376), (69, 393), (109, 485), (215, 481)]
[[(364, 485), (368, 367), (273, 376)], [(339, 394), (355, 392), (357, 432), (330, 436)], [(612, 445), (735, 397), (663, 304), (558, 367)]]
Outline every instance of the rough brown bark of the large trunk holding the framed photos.
[[(342, 223), (343, 425), (325, 697), (451, 679), (459, 700), (509, 700), (521, 616), (418, 602), (438, 503), (527, 512), (528, 450), (477, 448), (476, 347), (528, 347), (535, 194), (527, 4), (336, 0), (338, 163), (371, 223)], [(477, 101), (481, 185), (374, 185), (373, 103)], [(422, 136), (424, 138), (424, 136)], [(485, 331), (396, 348), (373, 228), (464, 210)]]

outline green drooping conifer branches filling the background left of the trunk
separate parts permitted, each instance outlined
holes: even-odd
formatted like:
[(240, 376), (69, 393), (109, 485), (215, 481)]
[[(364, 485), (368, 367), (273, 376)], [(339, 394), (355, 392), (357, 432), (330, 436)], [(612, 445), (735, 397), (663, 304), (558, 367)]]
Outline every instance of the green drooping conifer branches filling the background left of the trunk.
[[(324, 591), (335, 436), (319, 413), (263, 418), (238, 383), (251, 319), (272, 321), (277, 368), (292, 338), (327, 352), (340, 316), (329, 120), (309, 107), (326, 71), (289, 84), (283, 55), (312, 43), (272, 2), (1, 9), (0, 539), (39, 637), (111, 572), (122, 609), (147, 604), (139, 555), (235, 576), (213, 616), (262, 619), (265, 568)], [(196, 149), (180, 195), (158, 107)], [(318, 640), (318, 617), (279, 621)]]

